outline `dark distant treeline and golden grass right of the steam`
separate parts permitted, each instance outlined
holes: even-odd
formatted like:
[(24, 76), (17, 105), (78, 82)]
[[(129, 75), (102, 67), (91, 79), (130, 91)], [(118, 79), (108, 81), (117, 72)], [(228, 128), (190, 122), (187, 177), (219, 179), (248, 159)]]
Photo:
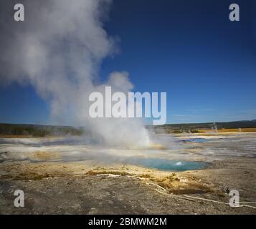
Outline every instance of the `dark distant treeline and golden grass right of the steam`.
[(235, 122), (206, 122), (206, 123), (184, 123), (184, 124), (167, 124), (162, 126), (148, 126), (156, 132), (198, 132), (198, 130), (217, 129), (238, 129), (238, 128), (256, 128), (256, 120), (235, 121)]

